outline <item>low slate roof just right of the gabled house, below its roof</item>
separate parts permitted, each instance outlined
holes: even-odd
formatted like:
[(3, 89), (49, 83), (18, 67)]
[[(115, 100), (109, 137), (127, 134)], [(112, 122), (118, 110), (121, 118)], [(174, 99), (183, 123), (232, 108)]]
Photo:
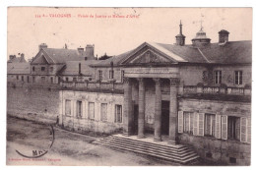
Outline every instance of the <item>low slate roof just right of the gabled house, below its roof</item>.
[(79, 63), (81, 63), (81, 74), (84, 76), (92, 76), (93, 69), (89, 66), (95, 64), (98, 60), (87, 61), (67, 61), (66, 68), (60, 73), (63, 76), (75, 76), (79, 75)]

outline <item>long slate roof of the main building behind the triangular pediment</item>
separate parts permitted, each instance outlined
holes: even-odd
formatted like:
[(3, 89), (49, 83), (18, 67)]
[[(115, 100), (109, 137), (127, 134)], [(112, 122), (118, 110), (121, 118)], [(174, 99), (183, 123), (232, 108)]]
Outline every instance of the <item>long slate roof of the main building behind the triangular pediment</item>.
[(149, 43), (145, 42), (139, 47), (114, 56), (110, 59), (100, 61), (94, 66), (121, 65), (122, 61), (129, 58), (142, 46), (148, 45), (159, 50), (177, 63), (216, 63), (216, 64), (251, 64), (252, 63), (252, 41), (228, 41), (223, 44), (210, 43), (206, 47), (195, 47), (192, 45), (179, 46), (175, 44)]

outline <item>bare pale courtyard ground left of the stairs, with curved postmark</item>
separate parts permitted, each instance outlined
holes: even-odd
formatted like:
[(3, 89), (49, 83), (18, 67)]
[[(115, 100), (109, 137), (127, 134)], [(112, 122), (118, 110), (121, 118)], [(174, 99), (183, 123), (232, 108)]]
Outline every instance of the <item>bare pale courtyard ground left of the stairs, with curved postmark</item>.
[[(7, 165), (86, 165), (86, 166), (148, 166), (179, 165), (129, 151), (93, 144), (98, 138), (80, 135), (54, 127), (52, 141), (50, 127), (14, 117), (7, 118)], [(39, 158), (26, 158), (32, 150), (48, 149)]]

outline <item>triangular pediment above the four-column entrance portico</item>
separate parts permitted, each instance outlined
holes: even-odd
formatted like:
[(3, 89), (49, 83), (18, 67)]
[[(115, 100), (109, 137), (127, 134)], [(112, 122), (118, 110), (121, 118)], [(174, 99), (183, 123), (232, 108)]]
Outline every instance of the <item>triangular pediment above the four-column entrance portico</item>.
[(144, 43), (136, 48), (132, 54), (130, 54), (120, 64), (159, 64), (159, 63), (176, 63), (172, 57), (161, 52), (154, 46)]

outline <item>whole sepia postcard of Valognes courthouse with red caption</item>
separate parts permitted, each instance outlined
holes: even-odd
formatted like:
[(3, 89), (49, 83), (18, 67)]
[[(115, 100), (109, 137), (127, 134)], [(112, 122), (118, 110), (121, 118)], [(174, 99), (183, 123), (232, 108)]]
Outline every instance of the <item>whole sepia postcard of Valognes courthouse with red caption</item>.
[(252, 8), (9, 7), (7, 27), (7, 165), (251, 165)]

